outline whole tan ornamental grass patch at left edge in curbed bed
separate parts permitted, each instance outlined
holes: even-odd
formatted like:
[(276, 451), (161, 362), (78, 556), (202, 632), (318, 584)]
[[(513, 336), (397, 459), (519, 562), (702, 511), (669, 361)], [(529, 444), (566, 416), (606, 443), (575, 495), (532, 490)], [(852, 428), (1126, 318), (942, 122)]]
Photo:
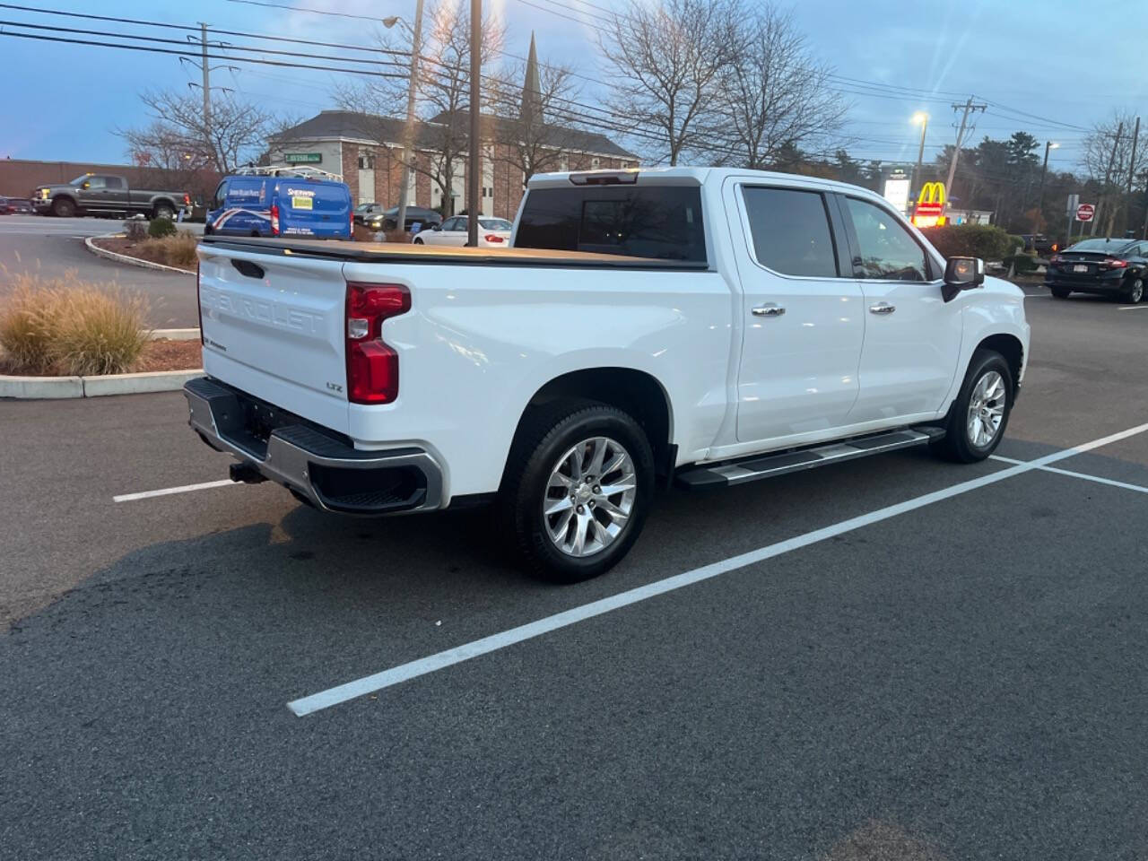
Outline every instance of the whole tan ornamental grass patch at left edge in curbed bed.
[(28, 374), (114, 374), (131, 371), (150, 338), (148, 303), (115, 284), (10, 277), (0, 307), (5, 370)]

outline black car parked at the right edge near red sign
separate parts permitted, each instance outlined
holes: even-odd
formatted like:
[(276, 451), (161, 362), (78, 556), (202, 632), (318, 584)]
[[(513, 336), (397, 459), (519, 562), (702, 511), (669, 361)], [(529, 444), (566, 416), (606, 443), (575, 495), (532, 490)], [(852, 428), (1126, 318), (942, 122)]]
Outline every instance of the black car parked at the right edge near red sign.
[(1045, 286), (1056, 298), (1094, 293), (1135, 304), (1145, 296), (1148, 242), (1089, 236), (1053, 255)]

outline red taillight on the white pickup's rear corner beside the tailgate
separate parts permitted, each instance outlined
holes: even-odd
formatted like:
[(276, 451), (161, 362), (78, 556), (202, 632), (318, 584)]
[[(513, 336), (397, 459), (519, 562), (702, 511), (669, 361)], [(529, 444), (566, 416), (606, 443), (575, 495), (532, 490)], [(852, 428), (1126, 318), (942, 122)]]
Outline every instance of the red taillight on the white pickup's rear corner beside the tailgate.
[(411, 310), (398, 284), (347, 285), (347, 398), (389, 404), (398, 397), (398, 354), (382, 340), (382, 323)]

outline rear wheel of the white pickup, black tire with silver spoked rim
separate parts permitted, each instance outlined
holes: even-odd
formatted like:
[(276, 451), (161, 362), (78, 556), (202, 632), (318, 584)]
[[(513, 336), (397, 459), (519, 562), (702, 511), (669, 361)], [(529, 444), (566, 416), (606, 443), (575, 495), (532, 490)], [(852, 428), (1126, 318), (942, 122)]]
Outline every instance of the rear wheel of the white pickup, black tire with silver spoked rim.
[(533, 576), (577, 583), (626, 556), (653, 492), (653, 452), (637, 421), (596, 401), (561, 401), (519, 427), (498, 492), (501, 530)]

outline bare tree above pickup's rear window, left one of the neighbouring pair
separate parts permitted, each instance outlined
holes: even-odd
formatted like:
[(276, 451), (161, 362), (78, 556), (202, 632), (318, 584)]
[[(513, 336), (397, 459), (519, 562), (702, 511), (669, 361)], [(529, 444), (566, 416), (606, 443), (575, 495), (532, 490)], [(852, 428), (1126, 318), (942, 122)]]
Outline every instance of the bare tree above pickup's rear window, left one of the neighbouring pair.
[(613, 113), (643, 130), (654, 161), (712, 150), (722, 71), (740, 53), (737, 0), (629, 0), (603, 23)]

